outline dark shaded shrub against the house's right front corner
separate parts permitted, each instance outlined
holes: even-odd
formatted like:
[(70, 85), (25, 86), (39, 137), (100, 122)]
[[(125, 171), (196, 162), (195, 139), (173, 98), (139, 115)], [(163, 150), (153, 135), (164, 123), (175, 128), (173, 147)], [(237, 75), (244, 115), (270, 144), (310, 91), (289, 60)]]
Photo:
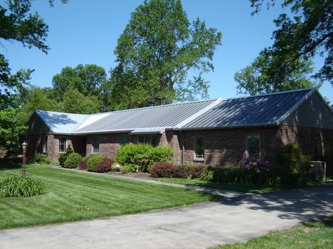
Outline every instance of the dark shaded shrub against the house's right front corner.
[(285, 173), (307, 173), (310, 157), (303, 155), (299, 144), (282, 146), (275, 155), (275, 161)]

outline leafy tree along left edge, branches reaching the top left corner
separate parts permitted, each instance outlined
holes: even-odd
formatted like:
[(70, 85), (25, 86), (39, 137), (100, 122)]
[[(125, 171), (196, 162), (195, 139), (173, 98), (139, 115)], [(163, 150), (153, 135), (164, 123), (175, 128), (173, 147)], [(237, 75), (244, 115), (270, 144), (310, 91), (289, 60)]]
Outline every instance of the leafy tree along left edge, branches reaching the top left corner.
[[(61, 0), (63, 3), (67, 0)], [(48, 1), (53, 5), (53, 0)], [(27, 48), (38, 48), (47, 53), (48, 26), (38, 13), (31, 14), (32, 0), (8, 0), (7, 6), (0, 6), (0, 44), (3, 41), (18, 41)], [(18, 151), (18, 136), (25, 125), (22, 120), (18, 95), (28, 86), (31, 69), (11, 74), (8, 60), (0, 54), (0, 150)]]

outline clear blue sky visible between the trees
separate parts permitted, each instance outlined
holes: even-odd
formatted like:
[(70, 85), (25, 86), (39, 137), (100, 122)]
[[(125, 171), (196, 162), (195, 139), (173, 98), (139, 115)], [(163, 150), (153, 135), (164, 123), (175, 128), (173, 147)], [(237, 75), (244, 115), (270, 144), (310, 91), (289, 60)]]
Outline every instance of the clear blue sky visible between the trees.
[[(0, 1), (1, 5), (3, 2)], [(182, 2), (190, 21), (200, 18), (223, 34), (223, 45), (214, 55), (214, 72), (204, 76), (210, 81), (209, 97), (235, 97), (237, 83), (233, 76), (249, 65), (261, 49), (273, 43), (273, 19), (282, 13), (280, 4), (252, 16), (247, 0)], [(56, 0), (51, 8), (47, 0), (35, 0), (32, 10), (38, 11), (49, 26), (48, 55), (36, 48), (23, 48), (19, 43), (4, 43), (0, 53), (8, 58), (13, 72), (20, 68), (35, 69), (30, 82), (41, 87), (52, 86), (52, 76), (66, 66), (93, 63), (109, 71), (115, 67), (113, 51), (117, 39), (131, 13), (142, 3), (143, 0), (70, 0), (60, 4)], [(315, 59), (316, 67), (320, 68), (321, 63), (321, 58)], [(320, 93), (333, 102), (331, 84), (325, 82)]]

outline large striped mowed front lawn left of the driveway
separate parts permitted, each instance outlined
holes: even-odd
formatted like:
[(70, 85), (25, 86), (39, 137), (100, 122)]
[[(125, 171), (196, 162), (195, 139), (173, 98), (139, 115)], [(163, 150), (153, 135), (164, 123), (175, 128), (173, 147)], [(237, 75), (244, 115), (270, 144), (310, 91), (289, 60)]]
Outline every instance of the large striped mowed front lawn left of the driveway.
[[(1, 169), (0, 180), (20, 173), (20, 168)], [(44, 182), (46, 194), (27, 198), (0, 197), (0, 229), (140, 213), (217, 198), (200, 191), (56, 168), (27, 168), (27, 176)]]

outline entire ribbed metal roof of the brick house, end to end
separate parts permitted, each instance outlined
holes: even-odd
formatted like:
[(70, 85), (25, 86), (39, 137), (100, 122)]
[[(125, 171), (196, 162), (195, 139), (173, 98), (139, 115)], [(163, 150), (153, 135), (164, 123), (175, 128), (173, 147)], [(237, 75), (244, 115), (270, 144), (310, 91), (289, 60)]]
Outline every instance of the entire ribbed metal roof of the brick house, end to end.
[(162, 133), (166, 129), (277, 126), (313, 93), (315, 89), (292, 90), (91, 115), (36, 112), (55, 134), (83, 135), (116, 132), (143, 134)]

